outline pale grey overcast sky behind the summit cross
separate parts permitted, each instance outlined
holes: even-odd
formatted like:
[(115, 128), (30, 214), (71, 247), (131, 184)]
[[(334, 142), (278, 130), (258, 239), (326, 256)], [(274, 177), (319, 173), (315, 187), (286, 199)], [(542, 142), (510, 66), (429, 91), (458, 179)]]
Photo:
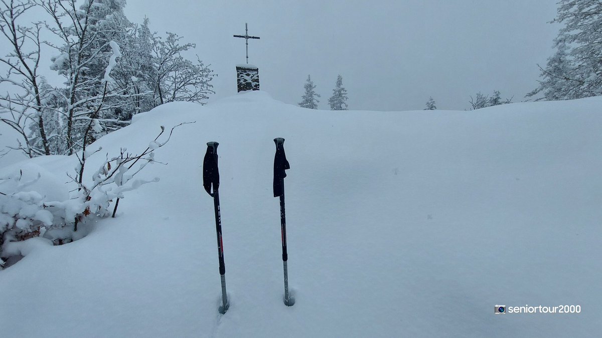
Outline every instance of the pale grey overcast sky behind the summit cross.
[[(236, 93), (235, 65), (259, 67), (261, 89), (297, 104), (311, 74), (327, 109), (337, 74), (350, 109), (468, 108), (477, 91), (524, 100), (537, 85), (560, 25), (554, 0), (192, 1), (128, 0), (132, 22), (196, 43), (219, 75), (211, 100)], [(194, 53), (190, 57), (194, 57)], [(48, 58), (51, 55), (48, 55)]]

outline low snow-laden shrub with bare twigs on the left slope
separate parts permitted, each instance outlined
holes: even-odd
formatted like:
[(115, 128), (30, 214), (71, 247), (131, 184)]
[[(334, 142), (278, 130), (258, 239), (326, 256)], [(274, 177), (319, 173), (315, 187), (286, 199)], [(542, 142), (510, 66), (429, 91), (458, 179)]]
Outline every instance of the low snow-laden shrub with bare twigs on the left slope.
[[(181, 126), (181, 123), (178, 126)], [(78, 223), (90, 217), (107, 217), (111, 215), (110, 204), (115, 201), (114, 212), (119, 198), (123, 193), (139, 188), (141, 185), (158, 182), (152, 180), (134, 179), (137, 173), (149, 163), (155, 163), (154, 151), (169, 142), (173, 129), (164, 141), (151, 141), (146, 149), (138, 154), (128, 153), (120, 149), (119, 155), (108, 157), (101, 167), (92, 174), (92, 182), (82, 180), (85, 159), (99, 152), (87, 151), (84, 147), (76, 176), (71, 177), (78, 186), (69, 198), (64, 182), (38, 165), (26, 162), (20, 168), (0, 177), (0, 257), (5, 257), (5, 243), (23, 241), (36, 236), (45, 238), (66, 239), (69, 242), (73, 232), (77, 231)], [(157, 162), (160, 163), (160, 162)], [(73, 232), (70, 227), (73, 226)], [(0, 260), (0, 267), (1, 267)]]

